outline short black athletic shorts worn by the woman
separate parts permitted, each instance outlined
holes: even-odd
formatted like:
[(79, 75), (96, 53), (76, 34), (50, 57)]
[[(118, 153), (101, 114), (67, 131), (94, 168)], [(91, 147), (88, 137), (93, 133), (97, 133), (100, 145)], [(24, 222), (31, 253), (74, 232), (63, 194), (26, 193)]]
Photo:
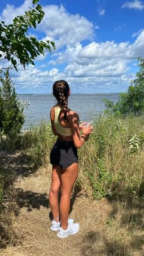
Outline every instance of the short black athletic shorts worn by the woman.
[(57, 139), (51, 150), (50, 163), (54, 166), (60, 166), (62, 169), (73, 163), (78, 163), (77, 148), (74, 146), (74, 142)]

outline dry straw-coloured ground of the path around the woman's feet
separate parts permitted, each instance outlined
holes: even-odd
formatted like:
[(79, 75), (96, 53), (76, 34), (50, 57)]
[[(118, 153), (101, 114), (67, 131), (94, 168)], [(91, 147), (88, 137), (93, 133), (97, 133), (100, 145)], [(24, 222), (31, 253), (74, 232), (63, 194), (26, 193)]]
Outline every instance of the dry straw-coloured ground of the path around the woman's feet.
[[(65, 239), (58, 238), (57, 232), (50, 229), (48, 192), (51, 166), (32, 172), (28, 162), (21, 152), (1, 152), (1, 166), (10, 172), (15, 171), (17, 178), (13, 186), (16, 210), (10, 213), (15, 243), (1, 249), (0, 255), (143, 255), (140, 249), (142, 244), (135, 254), (128, 251), (131, 236), (125, 232), (124, 227), (117, 227), (112, 223), (112, 216), (115, 214), (112, 204), (106, 199), (88, 199), (78, 186), (75, 186), (71, 198), (70, 218), (79, 223), (79, 233)], [(121, 237), (128, 241), (128, 246), (125, 246)]]

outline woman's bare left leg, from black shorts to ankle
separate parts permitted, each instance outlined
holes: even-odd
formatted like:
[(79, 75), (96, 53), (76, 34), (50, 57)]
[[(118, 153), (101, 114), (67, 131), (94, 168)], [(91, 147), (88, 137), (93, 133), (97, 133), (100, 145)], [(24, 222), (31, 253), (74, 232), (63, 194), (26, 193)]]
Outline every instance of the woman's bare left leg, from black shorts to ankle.
[(59, 166), (52, 166), (51, 188), (49, 191), (49, 205), (51, 207), (54, 221), (59, 222), (59, 188), (60, 188), (60, 170)]

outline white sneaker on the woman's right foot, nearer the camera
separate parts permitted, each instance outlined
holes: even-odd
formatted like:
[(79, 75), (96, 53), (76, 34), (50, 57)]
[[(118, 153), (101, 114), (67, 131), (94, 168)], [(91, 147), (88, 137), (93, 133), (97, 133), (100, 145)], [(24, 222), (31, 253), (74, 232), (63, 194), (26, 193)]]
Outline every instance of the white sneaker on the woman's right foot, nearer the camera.
[(78, 223), (73, 223), (73, 224), (68, 224), (68, 229), (63, 230), (62, 227), (60, 227), (59, 232), (57, 232), (57, 236), (59, 238), (65, 238), (68, 235), (74, 235), (79, 231), (79, 224)]

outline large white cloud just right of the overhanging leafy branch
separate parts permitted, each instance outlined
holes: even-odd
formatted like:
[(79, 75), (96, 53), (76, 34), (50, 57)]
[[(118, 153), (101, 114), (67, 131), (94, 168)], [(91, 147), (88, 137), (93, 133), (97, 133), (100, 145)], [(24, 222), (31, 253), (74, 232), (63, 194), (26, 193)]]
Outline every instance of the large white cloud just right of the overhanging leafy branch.
[(62, 5), (47, 5), (43, 10), (45, 16), (38, 25), (38, 30), (45, 32), (46, 38), (52, 38), (56, 42), (56, 48), (75, 45), (85, 39), (92, 40), (93, 24), (83, 16), (70, 15)]

